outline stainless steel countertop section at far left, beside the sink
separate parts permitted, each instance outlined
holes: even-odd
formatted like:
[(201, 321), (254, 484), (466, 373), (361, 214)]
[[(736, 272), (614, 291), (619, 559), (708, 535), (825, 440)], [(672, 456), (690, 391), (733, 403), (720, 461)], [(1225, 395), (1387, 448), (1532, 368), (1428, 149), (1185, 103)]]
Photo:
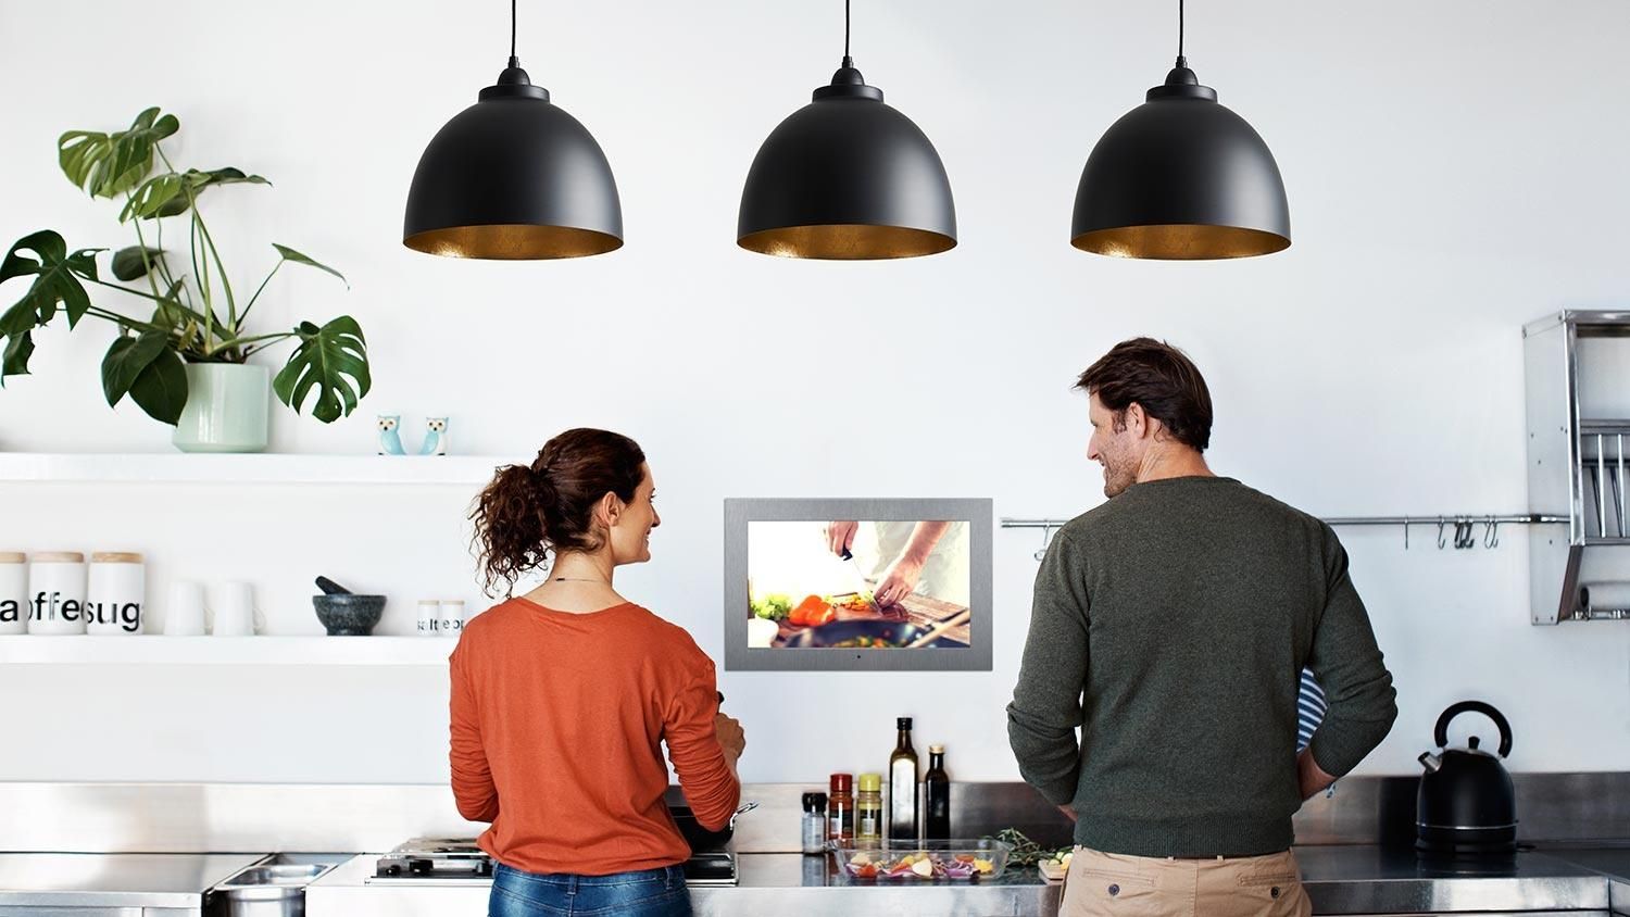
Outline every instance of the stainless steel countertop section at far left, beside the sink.
[(199, 907), (266, 853), (0, 853), (0, 907)]

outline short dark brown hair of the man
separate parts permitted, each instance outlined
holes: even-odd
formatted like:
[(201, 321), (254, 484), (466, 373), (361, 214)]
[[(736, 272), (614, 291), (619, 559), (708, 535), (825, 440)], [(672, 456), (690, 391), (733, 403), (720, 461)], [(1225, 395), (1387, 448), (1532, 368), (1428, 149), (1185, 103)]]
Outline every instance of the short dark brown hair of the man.
[(1164, 340), (1121, 340), (1081, 373), (1076, 388), (1099, 396), (1115, 414), (1117, 430), (1126, 428), (1126, 409), (1138, 402), (1174, 440), (1201, 453), (1211, 445), (1206, 380), (1187, 353)]

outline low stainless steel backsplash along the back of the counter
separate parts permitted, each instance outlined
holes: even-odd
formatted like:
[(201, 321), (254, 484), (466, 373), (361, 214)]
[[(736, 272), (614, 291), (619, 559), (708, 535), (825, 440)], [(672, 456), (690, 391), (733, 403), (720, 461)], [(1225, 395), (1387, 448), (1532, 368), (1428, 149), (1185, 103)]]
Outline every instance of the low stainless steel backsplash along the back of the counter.
[[(1514, 774), (1522, 840), (1630, 839), (1630, 774)], [(1297, 844), (1413, 840), (1415, 777), (1348, 777), (1296, 814)], [(748, 783), (743, 852), (797, 852), (800, 798), (815, 783)], [(676, 788), (670, 798), (678, 800)], [(409, 837), (474, 837), (442, 785), (0, 783), (0, 850), (383, 852)], [(1069, 842), (1069, 823), (1025, 783), (952, 783), (952, 834), (1017, 827)]]

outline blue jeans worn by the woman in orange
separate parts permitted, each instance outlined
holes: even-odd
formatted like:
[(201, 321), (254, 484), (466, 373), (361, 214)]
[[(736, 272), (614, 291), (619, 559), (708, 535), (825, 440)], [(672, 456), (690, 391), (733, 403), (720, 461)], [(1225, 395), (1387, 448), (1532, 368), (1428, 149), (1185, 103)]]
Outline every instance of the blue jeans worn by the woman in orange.
[(610, 876), (523, 873), (497, 863), (487, 917), (556, 915), (691, 917), (685, 870), (639, 870)]

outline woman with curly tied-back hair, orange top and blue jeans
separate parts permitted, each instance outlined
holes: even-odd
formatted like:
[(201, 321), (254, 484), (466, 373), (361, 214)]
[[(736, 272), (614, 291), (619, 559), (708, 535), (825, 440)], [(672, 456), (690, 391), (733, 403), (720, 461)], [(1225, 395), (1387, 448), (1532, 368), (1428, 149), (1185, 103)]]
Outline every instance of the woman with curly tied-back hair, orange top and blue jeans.
[(634, 440), (567, 430), (471, 513), (489, 590), (553, 554), (544, 583), (473, 619), (450, 658), (453, 796), (492, 823), (491, 917), (691, 914), (663, 743), (703, 827), (740, 800), (745, 739), (712, 661), (611, 586), (650, 560), (654, 492)]

